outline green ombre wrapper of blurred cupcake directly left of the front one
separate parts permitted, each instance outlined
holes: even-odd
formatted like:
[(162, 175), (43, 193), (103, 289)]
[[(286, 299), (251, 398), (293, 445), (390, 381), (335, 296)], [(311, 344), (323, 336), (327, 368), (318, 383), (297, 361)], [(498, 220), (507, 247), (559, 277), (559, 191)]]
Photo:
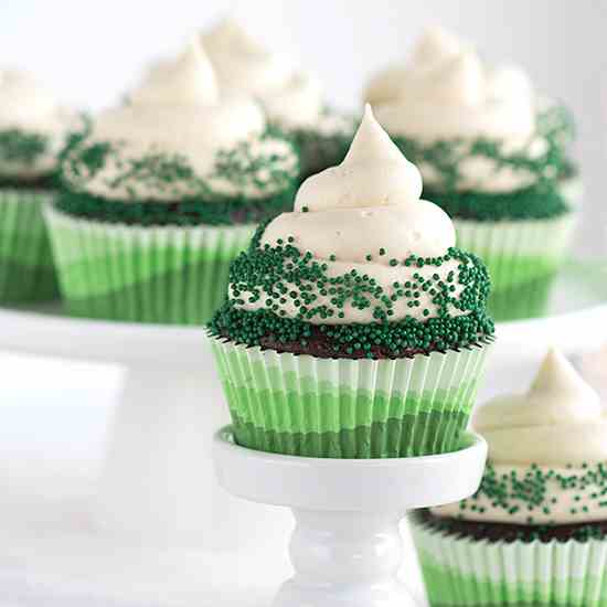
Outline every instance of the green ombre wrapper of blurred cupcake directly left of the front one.
[(230, 263), (253, 225), (134, 226), (45, 216), (61, 291), (75, 316), (201, 324), (227, 292)]

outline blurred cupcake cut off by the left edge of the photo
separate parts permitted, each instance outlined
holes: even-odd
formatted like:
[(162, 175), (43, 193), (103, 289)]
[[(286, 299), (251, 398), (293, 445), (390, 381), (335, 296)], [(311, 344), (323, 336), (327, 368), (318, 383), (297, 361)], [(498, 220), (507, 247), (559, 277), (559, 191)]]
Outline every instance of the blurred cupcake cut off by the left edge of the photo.
[(58, 296), (42, 204), (73, 120), (28, 74), (0, 70), (0, 302)]

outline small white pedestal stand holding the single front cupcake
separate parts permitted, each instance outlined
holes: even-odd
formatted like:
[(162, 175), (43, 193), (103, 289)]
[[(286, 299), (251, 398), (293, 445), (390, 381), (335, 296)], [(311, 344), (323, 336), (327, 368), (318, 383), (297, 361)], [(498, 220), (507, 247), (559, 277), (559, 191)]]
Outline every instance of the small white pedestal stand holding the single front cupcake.
[(320, 459), (239, 447), (228, 426), (215, 435), (220, 484), (255, 502), (292, 509), (295, 575), (274, 607), (411, 607), (396, 573), (406, 510), (454, 502), (479, 487), (487, 444), (467, 433), (462, 449), (400, 459)]

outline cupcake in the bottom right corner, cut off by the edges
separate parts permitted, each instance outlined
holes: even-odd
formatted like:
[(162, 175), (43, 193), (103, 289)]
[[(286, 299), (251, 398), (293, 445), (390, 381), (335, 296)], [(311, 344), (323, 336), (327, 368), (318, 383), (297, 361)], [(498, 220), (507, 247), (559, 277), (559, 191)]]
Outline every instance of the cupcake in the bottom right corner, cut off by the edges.
[(472, 498), (412, 515), (430, 605), (607, 605), (607, 418), (556, 351), (526, 394), (479, 408)]

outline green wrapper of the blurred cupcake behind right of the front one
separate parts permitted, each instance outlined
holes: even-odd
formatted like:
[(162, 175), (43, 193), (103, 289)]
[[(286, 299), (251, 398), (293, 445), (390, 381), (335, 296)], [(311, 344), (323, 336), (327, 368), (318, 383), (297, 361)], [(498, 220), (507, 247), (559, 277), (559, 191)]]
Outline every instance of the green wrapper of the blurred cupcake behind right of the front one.
[(489, 312), (496, 320), (542, 316), (564, 260), (576, 213), (550, 220), (455, 220), (458, 246), (475, 253), (491, 277)]

